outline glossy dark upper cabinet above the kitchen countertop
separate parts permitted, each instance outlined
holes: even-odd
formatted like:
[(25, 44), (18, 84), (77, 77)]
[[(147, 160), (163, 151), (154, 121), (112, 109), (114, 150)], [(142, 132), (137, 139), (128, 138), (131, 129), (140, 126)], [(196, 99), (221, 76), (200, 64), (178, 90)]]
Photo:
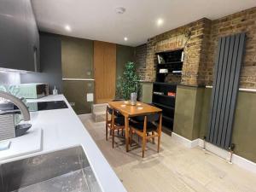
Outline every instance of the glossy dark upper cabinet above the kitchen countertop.
[(0, 67), (39, 71), (38, 37), (30, 0), (0, 1)]

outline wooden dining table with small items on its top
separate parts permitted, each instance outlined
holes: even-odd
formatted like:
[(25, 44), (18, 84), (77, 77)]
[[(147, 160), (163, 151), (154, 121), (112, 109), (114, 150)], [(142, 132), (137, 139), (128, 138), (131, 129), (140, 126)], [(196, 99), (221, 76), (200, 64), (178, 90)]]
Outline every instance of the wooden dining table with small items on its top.
[[(125, 116), (125, 148), (129, 151), (129, 118), (136, 116), (148, 115), (151, 113), (159, 113), (162, 116), (162, 109), (156, 108), (143, 102), (137, 102), (131, 105), (129, 101), (108, 102), (110, 108), (113, 108)], [(161, 126), (161, 125), (160, 125)]]

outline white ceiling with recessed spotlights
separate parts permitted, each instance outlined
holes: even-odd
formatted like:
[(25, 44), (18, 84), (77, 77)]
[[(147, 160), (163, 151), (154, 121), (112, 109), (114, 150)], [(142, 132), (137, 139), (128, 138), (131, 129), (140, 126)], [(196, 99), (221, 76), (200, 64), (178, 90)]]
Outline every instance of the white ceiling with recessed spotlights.
[[(256, 6), (255, 0), (32, 0), (41, 31), (137, 46), (148, 38), (207, 17)], [(115, 8), (124, 7), (123, 15)], [(156, 25), (159, 18), (162, 26)], [(72, 29), (67, 32), (64, 28)], [(124, 40), (128, 38), (128, 41)]]

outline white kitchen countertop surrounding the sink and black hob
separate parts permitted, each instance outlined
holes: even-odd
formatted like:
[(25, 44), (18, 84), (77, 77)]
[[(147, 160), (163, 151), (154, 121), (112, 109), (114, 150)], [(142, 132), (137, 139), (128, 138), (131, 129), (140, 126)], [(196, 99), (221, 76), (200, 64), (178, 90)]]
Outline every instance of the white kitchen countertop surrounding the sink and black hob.
[(43, 130), (42, 151), (2, 160), (0, 164), (81, 145), (101, 186), (102, 192), (125, 192), (125, 187), (113, 172), (113, 169), (96, 146), (96, 143), (90, 137), (89, 132), (84, 128), (77, 114), (74, 113), (73, 108), (71, 108), (65, 96), (46, 96), (38, 100), (28, 100), (28, 102), (61, 100), (67, 103), (68, 108), (31, 113), (31, 129), (41, 128)]

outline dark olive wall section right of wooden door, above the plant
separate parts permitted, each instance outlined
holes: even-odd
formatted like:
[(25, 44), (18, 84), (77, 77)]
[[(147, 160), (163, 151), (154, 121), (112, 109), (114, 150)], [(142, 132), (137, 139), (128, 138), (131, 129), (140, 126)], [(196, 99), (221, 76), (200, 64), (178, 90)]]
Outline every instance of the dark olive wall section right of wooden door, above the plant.
[(124, 73), (125, 64), (135, 61), (135, 48), (125, 45), (116, 45), (116, 79)]

